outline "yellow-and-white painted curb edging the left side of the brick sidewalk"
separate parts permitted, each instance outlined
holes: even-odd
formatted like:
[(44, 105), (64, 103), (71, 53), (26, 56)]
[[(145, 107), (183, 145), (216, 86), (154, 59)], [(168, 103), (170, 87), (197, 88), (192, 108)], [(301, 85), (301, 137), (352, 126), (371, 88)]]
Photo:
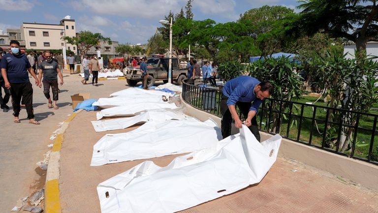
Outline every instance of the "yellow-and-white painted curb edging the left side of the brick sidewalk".
[(54, 140), (54, 145), (50, 153), (49, 164), (46, 173), (45, 183), (45, 213), (62, 213), (61, 199), (59, 194), (59, 174), (60, 174), (60, 159), (61, 149), (64, 140), (63, 134), (68, 128), (69, 123), (81, 112), (82, 109), (72, 113), (57, 131), (57, 137)]

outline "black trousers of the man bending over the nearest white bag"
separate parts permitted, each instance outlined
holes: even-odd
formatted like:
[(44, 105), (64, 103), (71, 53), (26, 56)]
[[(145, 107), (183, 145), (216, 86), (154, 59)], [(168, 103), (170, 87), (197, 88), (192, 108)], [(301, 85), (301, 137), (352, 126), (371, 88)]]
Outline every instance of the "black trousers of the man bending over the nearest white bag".
[[(221, 99), (221, 114), (222, 114), (222, 120), (221, 120), (221, 131), (223, 139), (227, 138), (231, 135), (231, 125), (232, 125), (232, 115), (230, 110), (227, 106), (227, 100), (228, 97), (225, 95), (222, 95)], [(239, 110), (242, 112), (245, 118), (248, 117), (248, 112), (250, 111), (252, 103), (251, 102), (236, 102), (236, 106), (238, 106)], [(260, 142), (260, 133), (258, 131), (257, 121), (256, 121), (256, 115), (253, 116), (251, 120), (252, 125), (248, 128), (251, 130), (254, 137), (256, 137), (257, 141)]]

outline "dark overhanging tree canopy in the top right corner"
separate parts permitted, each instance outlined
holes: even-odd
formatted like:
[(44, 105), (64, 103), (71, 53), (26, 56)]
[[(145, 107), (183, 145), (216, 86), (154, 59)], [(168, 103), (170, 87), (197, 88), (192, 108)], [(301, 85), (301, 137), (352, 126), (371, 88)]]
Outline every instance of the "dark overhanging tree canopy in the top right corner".
[(343, 37), (356, 44), (358, 58), (366, 56), (366, 43), (378, 41), (376, 0), (306, 0), (297, 8), (298, 17), (286, 22), (290, 35), (314, 35), (319, 30), (332, 37)]

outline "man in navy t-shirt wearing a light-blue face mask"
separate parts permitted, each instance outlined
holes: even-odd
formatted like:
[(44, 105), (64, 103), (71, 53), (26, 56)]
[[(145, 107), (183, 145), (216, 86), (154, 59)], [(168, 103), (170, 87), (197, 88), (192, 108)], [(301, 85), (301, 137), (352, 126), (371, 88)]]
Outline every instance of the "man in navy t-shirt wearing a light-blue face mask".
[(39, 86), (38, 78), (32, 71), (32, 66), (26, 56), (20, 53), (20, 43), (18, 41), (10, 41), (10, 51), (3, 56), (0, 68), (1, 75), (5, 81), (5, 87), (10, 89), (10, 94), (12, 95), (14, 122), (20, 123), (18, 116), (20, 113), (21, 98), (23, 98), (29, 123), (39, 124), (38, 121), (34, 120), (33, 88), (27, 71), (35, 79), (35, 84)]

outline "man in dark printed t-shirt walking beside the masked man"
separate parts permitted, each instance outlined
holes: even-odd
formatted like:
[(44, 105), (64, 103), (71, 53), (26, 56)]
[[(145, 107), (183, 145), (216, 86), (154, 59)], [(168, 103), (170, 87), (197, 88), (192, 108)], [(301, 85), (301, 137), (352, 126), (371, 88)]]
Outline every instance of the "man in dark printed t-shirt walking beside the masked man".
[[(43, 62), (39, 65), (39, 81), (42, 79), (43, 75), (43, 94), (45, 94), (45, 97), (47, 100), (49, 100), (48, 107), (54, 109), (58, 109), (59, 107), (57, 106), (57, 101), (58, 101), (58, 94), (59, 94), (59, 89), (58, 89), (58, 77), (61, 79), (61, 85), (63, 85), (63, 75), (62, 72), (59, 70), (59, 65), (58, 62), (55, 60), (52, 60), (52, 56), (50, 52), (45, 53), (45, 58)], [(50, 98), (50, 86), (53, 91), (53, 101), (51, 101)], [(39, 84), (39, 87), (41, 87), (41, 84)]]

